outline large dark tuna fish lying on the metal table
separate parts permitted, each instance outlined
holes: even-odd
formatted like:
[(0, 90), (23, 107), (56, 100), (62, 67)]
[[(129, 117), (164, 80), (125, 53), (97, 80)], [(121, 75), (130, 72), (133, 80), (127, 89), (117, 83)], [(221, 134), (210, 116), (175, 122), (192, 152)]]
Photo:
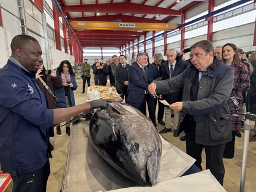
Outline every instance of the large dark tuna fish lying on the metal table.
[(121, 174), (141, 186), (156, 184), (162, 141), (140, 111), (126, 103), (110, 103), (93, 114), (89, 135), (97, 152)]

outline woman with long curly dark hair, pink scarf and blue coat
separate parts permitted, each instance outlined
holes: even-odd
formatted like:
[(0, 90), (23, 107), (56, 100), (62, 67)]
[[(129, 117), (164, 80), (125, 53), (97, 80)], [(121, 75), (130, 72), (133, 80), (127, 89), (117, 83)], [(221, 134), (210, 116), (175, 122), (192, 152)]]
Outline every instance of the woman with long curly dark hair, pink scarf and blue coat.
[[(75, 106), (75, 97), (73, 90), (77, 89), (77, 81), (75, 81), (75, 73), (69, 61), (64, 60), (57, 68), (57, 74), (61, 78), (61, 88), (55, 90), (55, 94), (61, 100), (56, 105), (57, 108), (69, 108)], [(70, 119), (66, 120), (68, 122)], [(66, 133), (70, 135), (70, 124), (66, 125)], [(61, 135), (60, 124), (57, 125), (57, 134)]]

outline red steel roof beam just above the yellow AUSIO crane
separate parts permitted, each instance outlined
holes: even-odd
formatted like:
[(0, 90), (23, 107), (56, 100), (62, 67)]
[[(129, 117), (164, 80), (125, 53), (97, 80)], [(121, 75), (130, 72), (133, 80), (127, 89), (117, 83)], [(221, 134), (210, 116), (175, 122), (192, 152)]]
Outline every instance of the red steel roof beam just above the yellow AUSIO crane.
[(70, 21), (108, 21), (112, 22), (116, 19), (122, 20), (123, 22), (134, 22), (134, 23), (166, 23), (162, 20), (154, 20), (149, 18), (142, 17), (132, 17), (130, 15), (101, 15), (101, 16), (92, 16), (92, 17), (74, 17), (70, 18)]

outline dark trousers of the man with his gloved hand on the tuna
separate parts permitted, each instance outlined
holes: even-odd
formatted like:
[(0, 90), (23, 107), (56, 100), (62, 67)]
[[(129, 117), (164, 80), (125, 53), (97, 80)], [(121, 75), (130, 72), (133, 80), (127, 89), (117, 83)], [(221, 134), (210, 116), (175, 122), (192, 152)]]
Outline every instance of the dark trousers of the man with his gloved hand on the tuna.
[(24, 175), (12, 176), (13, 192), (45, 192), (50, 175), (50, 163), (47, 158), (45, 165), (37, 171)]

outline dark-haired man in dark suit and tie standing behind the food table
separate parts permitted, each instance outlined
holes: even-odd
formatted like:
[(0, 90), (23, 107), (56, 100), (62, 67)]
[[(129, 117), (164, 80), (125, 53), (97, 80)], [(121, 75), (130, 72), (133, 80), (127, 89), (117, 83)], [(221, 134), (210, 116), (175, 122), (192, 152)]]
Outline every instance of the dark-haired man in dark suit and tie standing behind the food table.
[(121, 65), (116, 67), (116, 81), (118, 81), (118, 91), (121, 94), (121, 98), (124, 99), (126, 97), (127, 103), (127, 89), (128, 89), (128, 72), (130, 65), (126, 63), (126, 56), (121, 55), (119, 56)]

